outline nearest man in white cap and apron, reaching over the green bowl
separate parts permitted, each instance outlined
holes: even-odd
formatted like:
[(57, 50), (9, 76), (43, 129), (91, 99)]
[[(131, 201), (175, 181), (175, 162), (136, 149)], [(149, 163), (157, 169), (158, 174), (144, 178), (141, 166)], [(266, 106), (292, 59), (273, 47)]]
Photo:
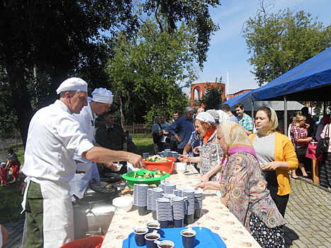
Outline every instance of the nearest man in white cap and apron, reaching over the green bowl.
[[(94, 162), (128, 161), (144, 167), (138, 154), (95, 147), (72, 113), (87, 106), (86, 81), (72, 77), (57, 89), (60, 99), (41, 108), (30, 121), (23, 173), (26, 190), (26, 247), (61, 247), (74, 240), (74, 221), (69, 181), (77, 164), (74, 153)], [(25, 235), (23, 235), (25, 237)]]

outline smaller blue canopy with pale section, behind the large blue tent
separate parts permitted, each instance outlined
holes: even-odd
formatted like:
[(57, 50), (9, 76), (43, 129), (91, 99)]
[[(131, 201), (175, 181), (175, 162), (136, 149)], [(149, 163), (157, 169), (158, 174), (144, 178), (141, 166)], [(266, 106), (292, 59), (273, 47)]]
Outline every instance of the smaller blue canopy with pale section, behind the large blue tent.
[[(243, 103), (245, 106), (245, 111), (252, 111), (251, 94), (253, 91), (248, 91), (239, 96), (230, 98), (228, 101), (225, 101), (224, 103), (228, 104), (232, 111), (235, 111), (236, 103)], [(257, 111), (257, 109), (262, 106), (274, 108), (275, 111), (284, 111), (284, 101), (255, 101), (254, 102), (254, 111)], [(287, 109), (289, 111), (298, 111), (298, 110), (301, 110), (302, 107), (303, 107), (303, 105), (301, 103), (298, 103), (297, 101), (288, 101), (287, 102)]]

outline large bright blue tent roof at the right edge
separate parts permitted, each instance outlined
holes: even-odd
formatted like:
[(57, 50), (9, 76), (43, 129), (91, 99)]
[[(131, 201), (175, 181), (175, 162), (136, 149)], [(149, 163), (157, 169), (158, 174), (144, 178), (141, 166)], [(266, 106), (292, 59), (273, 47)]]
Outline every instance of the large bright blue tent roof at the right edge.
[(331, 47), (299, 64), (269, 84), (252, 91), (253, 101), (331, 101)]

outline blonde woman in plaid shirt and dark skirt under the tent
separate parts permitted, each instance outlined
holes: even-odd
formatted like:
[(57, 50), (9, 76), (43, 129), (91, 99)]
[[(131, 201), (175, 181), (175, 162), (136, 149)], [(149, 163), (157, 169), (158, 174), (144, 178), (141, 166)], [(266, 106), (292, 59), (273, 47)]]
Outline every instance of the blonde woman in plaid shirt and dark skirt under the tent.
[[(292, 143), (296, 148), (296, 157), (298, 157), (299, 169), (305, 177), (308, 177), (303, 164), (303, 162), (305, 162), (305, 152), (307, 151), (308, 143), (313, 141), (313, 137), (308, 137), (308, 128), (310, 128), (310, 125), (305, 123), (305, 116), (298, 113), (296, 117), (293, 118), (290, 135)], [(295, 169), (292, 170), (292, 178), (298, 178)]]

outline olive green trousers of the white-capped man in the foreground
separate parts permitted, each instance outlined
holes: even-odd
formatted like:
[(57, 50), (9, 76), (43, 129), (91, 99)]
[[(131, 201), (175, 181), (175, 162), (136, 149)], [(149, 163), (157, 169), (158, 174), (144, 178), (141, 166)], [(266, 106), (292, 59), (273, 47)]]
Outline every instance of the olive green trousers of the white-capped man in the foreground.
[(26, 222), (28, 227), (28, 248), (43, 247), (43, 195), (40, 184), (31, 181), (27, 189)]

